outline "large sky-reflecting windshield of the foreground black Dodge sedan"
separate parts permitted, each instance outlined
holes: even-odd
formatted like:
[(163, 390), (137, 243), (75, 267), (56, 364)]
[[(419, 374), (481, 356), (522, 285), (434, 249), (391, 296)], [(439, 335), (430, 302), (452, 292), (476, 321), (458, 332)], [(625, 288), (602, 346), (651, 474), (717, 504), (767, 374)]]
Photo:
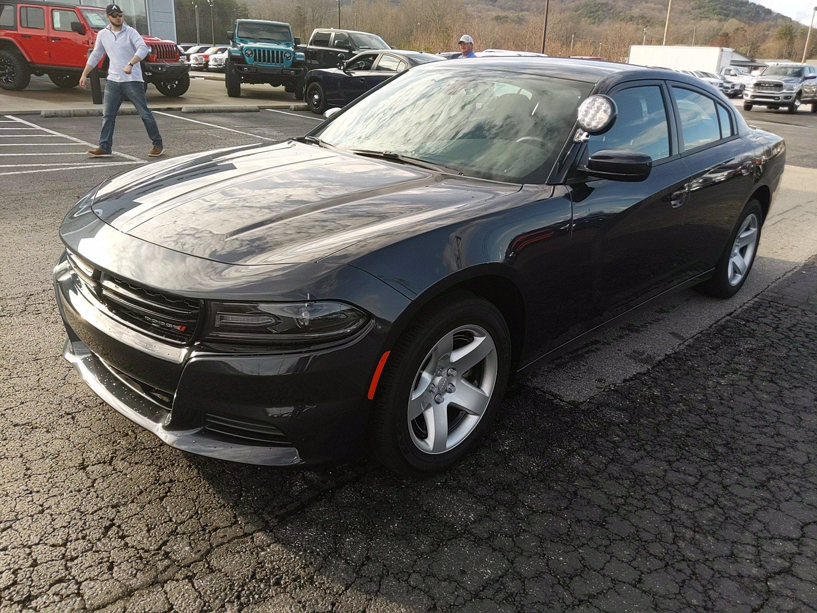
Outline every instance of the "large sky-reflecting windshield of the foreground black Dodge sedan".
[(314, 136), (327, 145), (401, 154), (469, 177), (543, 183), (592, 85), (440, 64), (411, 69)]

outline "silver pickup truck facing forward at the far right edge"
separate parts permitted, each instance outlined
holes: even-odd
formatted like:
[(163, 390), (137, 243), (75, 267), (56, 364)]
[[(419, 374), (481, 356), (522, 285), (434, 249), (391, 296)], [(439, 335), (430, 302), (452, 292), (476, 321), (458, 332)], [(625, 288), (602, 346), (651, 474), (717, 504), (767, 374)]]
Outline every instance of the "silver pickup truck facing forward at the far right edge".
[(784, 108), (794, 113), (801, 104), (811, 104), (817, 112), (817, 67), (807, 64), (775, 64), (747, 83), (743, 91), (743, 110), (754, 105), (769, 109)]

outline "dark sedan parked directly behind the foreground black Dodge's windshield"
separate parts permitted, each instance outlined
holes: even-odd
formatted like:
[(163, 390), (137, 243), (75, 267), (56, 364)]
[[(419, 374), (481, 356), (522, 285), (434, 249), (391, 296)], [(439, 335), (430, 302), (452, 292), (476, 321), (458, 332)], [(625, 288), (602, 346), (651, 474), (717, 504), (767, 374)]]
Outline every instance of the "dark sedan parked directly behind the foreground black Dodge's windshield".
[(306, 104), (313, 113), (323, 113), (328, 106), (346, 106), (395, 74), (444, 59), (421, 51), (364, 51), (337, 68), (310, 70), (306, 75)]

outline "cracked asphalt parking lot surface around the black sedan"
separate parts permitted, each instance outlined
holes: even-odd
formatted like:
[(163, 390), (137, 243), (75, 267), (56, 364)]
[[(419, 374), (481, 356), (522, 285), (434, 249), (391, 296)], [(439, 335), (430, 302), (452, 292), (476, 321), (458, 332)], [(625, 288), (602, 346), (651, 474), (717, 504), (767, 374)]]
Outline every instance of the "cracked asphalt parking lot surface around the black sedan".
[[(163, 445), (60, 356), (57, 228), (145, 163), (137, 117), (0, 116), (2, 611), (814, 611), (817, 115), (733, 300), (677, 294), (521, 378), (471, 459), (283, 471)], [(315, 115), (157, 115), (167, 154)]]

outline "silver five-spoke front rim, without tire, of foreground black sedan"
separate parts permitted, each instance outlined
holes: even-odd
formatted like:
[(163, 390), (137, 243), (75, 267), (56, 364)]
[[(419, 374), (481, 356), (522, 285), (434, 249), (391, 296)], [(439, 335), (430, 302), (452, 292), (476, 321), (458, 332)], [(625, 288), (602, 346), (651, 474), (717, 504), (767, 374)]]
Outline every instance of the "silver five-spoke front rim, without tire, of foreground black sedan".
[(418, 450), (443, 454), (465, 441), (488, 408), (498, 374), (491, 335), (463, 325), (431, 348), (408, 396), (408, 432)]

